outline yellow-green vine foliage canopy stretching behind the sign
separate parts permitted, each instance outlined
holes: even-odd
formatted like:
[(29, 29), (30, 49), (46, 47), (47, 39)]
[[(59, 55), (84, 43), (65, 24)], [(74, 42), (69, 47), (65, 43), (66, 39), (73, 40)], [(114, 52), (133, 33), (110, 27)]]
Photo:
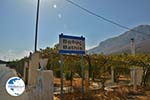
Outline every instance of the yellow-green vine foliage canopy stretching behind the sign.
[[(40, 56), (42, 58), (48, 58), (47, 68), (53, 70), (54, 75), (60, 78), (60, 55), (58, 54), (58, 44), (53, 48), (47, 47), (40, 49)], [(28, 61), (29, 58), (23, 58), (17, 61), (11, 61), (8, 65), (17, 70), (23, 75), (24, 61)], [(81, 76), (81, 56), (80, 55), (63, 55), (64, 73), (66, 73), (66, 79), (70, 79), (70, 72), (77, 73)], [(129, 76), (130, 68), (132, 66), (142, 67), (144, 69), (143, 81), (145, 84), (150, 83), (150, 55), (103, 55), (103, 54), (91, 54), (84, 56), (85, 70), (90, 72), (90, 77), (93, 79), (100, 79), (102, 77), (110, 77), (111, 68), (115, 69), (115, 73)], [(144, 83), (143, 83), (144, 84)]]

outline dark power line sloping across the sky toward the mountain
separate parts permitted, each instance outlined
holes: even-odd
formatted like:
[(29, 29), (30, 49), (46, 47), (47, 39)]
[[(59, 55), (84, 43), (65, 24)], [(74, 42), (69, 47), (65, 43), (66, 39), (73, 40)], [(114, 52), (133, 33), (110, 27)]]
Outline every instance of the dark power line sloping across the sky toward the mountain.
[(78, 8), (80, 8), (80, 9), (82, 9), (82, 10), (85, 11), (85, 12), (87, 12), (87, 13), (89, 13), (89, 14), (95, 16), (95, 17), (98, 17), (98, 18), (100, 18), (100, 19), (102, 19), (102, 20), (104, 20), (104, 21), (107, 21), (107, 22), (109, 22), (109, 23), (111, 23), (111, 24), (113, 24), (113, 25), (116, 25), (116, 26), (121, 27), (121, 28), (123, 28), (123, 29), (127, 29), (127, 30), (130, 30), (130, 31), (134, 31), (134, 32), (137, 32), (137, 33), (146, 34), (146, 33), (143, 33), (143, 32), (140, 32), (140, 31), (137, 31), (137, 30), (134, 30), (134, 29), (131, 29), (131, 28), (129, 28), (129, 27), (127, 27), (127, 26), (124, 26), (124, 25), (122, 25), (122, 24), (119, 24), (119, 23), (117, 23), (117, 22), (115, 22), (115, 21), (112, 21), (112, 20), (110, 20), (110, 19), (108, 19), (108, 18), (106, 18), (106, 17), (103, 17), (103, 16), (101, 16), (101, 15), (99, 15), (99, 14), (96, 14), (96, 13), (94, 13), (94, 12), (92, 12), (92, 11), (90, 11), (90, 10), (84, 8), (84, 7), (82, 7), (81, 5), (79, 5), (79, 4), (77, 4), (77, 3), (73, 2), (73, 1), (71, 1), (71, 0), (65, 0), (65, 1), (67, 1), (67, 2), (71, 3), (72, 5), (74, 5), (74, 6), (78, 7)]

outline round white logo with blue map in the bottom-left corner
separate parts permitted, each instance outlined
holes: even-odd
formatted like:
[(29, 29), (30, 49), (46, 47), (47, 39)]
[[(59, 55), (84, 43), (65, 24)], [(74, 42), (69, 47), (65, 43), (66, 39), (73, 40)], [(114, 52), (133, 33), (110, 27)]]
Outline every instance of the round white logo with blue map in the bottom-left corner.
[(11, 77), (6, 82), (6, 90), (11, 96), (20, 96), (25, 90), (25, 83), (19, 77)]

